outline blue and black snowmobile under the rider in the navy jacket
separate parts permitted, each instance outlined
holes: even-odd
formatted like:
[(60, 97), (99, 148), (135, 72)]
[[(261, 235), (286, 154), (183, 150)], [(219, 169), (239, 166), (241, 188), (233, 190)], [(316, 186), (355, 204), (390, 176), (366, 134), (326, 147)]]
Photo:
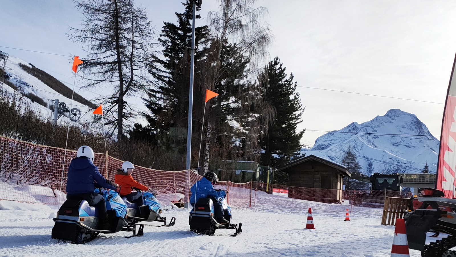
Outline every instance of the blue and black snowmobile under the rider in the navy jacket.
[(90, 206), (80, 197), (72, 197), (62, 204), (52, 228), (52, 238), (83, 244), (93, 240), (99, 233), (116, 233), (122, 229), (127, 208), (124, 200), (114, 190), (95, 188), (94, 193), (102, 194), (106, 202), (106, 213), (110, 230), (98, 230), (98, 208)]

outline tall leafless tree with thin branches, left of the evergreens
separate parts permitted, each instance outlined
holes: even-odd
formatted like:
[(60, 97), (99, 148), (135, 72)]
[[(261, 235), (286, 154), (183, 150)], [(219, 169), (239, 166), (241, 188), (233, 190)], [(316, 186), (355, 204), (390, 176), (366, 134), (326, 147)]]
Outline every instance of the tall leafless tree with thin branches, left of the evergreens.
[[(87, 57), (80, 66), (84, 87), (108, 87), (110, 93), (98, 101), (105, 104), (104, 112), (109, 133), (117, 130), (120, 141), (124, 121), (135, 117), (126, 101), (128, 96), (148, 89), (146, 65), (152, 53), (154, 36), (143, 8), (133, 0), (75, 1), (83, 13), (82, 28), (71, 28), (73, 42), (82, 44)], [(128, 125), (128, 123), (127, 123)]]

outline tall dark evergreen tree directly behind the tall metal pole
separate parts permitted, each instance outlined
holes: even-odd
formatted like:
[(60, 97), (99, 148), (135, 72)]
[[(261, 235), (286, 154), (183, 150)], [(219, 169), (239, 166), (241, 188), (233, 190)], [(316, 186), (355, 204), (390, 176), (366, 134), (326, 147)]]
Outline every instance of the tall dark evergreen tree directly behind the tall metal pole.
[[(193, 4), (190, 0), (182, 4), (185, 11), (176, 13), (177, 24), (164, 22), (158, 39), (164, 58), (152, 55), (149, 73), (154, 78), (154, 87), (148, 92), (148, 98), (144, 99), (151, 113), (145, 114), (148, 127), (161, 130), (163, 134), (166, 134), (169, 127), (187, 127)], [(196, 11), (199, 10), (197, 7)], [(200, 16), (196, 15), (196, 18), (199, 19)], [(207, 26), (196, 27), (194, 85), (199, 85), (199, 67), (207, 43)], [(195, 86), (195, 100), (201, 98), (198, 97), (199, 91), (202, 90)]]

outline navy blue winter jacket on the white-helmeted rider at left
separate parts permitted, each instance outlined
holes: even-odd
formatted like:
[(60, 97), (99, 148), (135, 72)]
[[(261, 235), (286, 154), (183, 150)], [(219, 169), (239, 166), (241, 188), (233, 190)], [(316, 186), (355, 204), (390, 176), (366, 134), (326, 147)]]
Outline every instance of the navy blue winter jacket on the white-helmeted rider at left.
[(67, 194), (92, 193), (95, 190), (94, 181), (104, 188), (116, 189), (112, 182), (106, 181), (98, 172), (98, 167), (93, 165), (89, 158), (83, 156), (71, 161), (68, 168)]

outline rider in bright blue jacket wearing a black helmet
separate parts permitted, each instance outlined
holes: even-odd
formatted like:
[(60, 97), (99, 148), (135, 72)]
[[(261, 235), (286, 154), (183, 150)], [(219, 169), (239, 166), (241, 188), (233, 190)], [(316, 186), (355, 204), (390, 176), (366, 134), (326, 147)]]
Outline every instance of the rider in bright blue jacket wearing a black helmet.
[(212, 171), (206, 172), (206, 174), (204, 174), (204, 177), (193, 184), (192, 188), (190, 189), (192, 192), (190, 203), (192, 206), (195, 206), (195, 203), (199, 198), (212, 198), (212, 202), (214, 203), (214, 214), (217, 222), (222, 225), (228, 224), (229, 221), (223, 217), (222, 204), (219, 203), (216, 199), (219, 197), (225, 197), (225, 195), (228, 193), (228, 190), (215, 190), (213, 187), (215, 183), (218, 183), (217, 174)]

